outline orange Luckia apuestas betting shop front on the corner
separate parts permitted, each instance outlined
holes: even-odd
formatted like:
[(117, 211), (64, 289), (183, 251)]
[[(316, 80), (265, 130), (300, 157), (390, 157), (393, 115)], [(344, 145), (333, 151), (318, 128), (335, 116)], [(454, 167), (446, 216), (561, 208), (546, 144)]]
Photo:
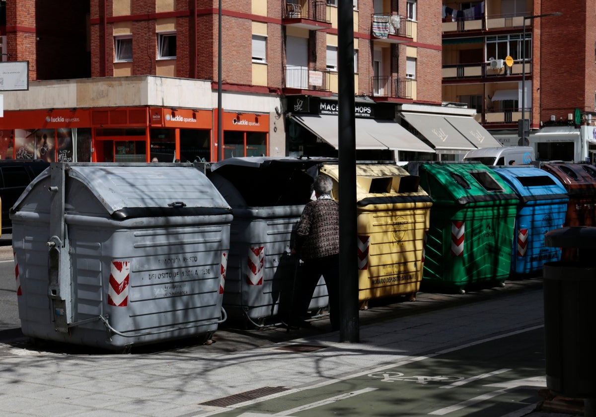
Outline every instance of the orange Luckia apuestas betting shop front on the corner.
[(0, 157), (48, 162), (210, 161), (213, 113), (162, 107), (5, 111)]

